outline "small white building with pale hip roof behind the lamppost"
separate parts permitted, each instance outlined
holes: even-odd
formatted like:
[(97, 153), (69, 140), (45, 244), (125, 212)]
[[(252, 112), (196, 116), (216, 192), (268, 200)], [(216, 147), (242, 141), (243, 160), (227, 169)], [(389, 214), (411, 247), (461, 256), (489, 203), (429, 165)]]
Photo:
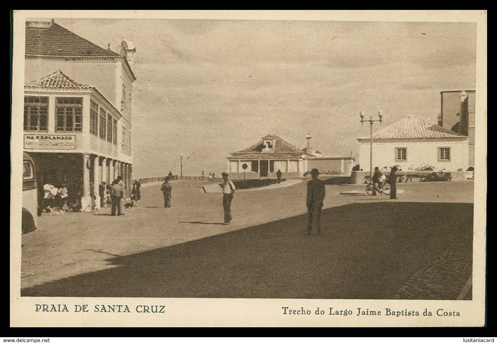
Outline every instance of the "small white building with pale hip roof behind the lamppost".
[[(369, 171), (370, 137), (357, 140), (360, 169)], [(373, 134), (373, 167), (390, 170), (395, 165), (403, 171), (422, 165), (435, 171), (465, 171), (468, 136), (411, 115)]]

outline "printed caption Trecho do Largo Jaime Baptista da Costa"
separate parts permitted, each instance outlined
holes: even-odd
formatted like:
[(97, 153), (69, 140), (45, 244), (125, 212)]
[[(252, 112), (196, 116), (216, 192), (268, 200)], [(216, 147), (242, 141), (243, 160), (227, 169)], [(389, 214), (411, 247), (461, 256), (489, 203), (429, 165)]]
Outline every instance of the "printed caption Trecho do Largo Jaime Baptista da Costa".
[(369, 308), (357, 307), (356, 310), (352, 311), (349, 309), (337, 309), (334, 307), (329, 307), (327, 309), (317, 308), (315, 311), (304, 309), (301, 307), (299, 309), (292, 309), (290, 307), (282, 307), (284, 315), (330, 315), (330, 316), (438, 316), (438, 317), (458, 317), (461, 314), (457, 311), (437, 309), (436, 311), (430, 311), (424, 309), (424, 311), (416, 311), (413, 309), (403, 309), (403, 310), (393, 310), (385, 308), (385, 310), (370, 310)]

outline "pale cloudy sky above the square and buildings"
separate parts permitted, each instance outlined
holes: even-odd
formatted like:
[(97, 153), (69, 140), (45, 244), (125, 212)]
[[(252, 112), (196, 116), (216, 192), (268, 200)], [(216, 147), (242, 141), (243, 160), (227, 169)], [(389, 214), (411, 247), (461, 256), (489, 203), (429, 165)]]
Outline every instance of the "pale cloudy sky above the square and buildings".
[(55, 21), (114, 51), (136, 46), (133, 177), (220, 174), (267, 134), (358, 160), (359, 111), (437, 123), (440, 91), (474, 89), (476, 23), (308, 20)]

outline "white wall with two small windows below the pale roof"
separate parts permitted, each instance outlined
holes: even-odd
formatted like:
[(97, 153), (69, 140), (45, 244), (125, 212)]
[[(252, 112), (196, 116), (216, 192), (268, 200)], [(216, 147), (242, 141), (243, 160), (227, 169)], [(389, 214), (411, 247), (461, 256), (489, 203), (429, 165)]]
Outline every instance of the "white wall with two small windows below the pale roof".
[[(450, 147), (450, 161), (438, 161), (438, 148)], [(396, 149), (407, 148), (407, 160), (396, 162)], [(370, 144), (359, 143), (359, 165), (363, 171), (369, 171)], [(410, 167), (416, 169), (422, 164), (435, 167), (435, 171), (457, 171), (459, 168), (468, 168), (468, 140), (397, 140), (389, 142), (373, 142), (373, 168), (399, 165), (403, 171), (408, 171)]]

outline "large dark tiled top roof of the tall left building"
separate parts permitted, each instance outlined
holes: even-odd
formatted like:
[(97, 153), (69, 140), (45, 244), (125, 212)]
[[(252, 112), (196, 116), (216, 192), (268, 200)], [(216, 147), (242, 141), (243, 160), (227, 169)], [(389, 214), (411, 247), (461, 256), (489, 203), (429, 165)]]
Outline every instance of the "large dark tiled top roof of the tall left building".
[(119, 57), (111, 50), (78, 36), (55, 22), (26, 21), (26, 51), (30, 57)]

